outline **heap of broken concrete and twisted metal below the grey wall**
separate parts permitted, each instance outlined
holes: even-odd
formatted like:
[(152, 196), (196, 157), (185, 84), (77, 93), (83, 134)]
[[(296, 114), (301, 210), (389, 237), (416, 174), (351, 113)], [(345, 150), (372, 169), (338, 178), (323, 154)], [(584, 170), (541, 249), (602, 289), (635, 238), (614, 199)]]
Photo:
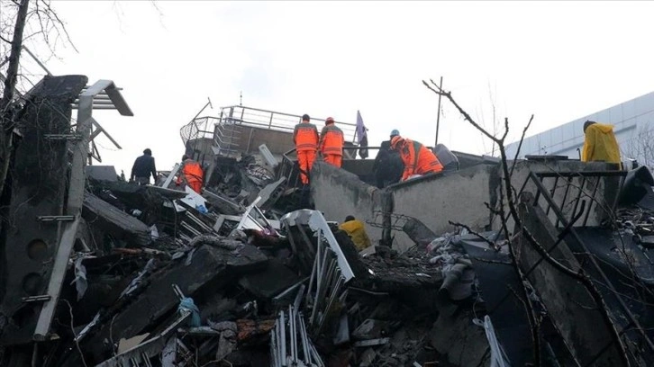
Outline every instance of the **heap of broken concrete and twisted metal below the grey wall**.
[[(250, 180), (251, 166), (232, 164)], [(282, 183), (264, 178), (250, 190)], [(81, 239), (50, 330), (57, 342), (42, 344), (39, 365), (447, 361), (434, 322), (445, 269), (463, 256), (450, 241), (359, 255), (319, 211), (279, 218), (270, 195), (262, 210), (260, 194), (250, 202), (229, 184), (214, 187), (200, 195), (88, 178)], [(31, 358), (30, 349), (5, 349), (6, 361)]]

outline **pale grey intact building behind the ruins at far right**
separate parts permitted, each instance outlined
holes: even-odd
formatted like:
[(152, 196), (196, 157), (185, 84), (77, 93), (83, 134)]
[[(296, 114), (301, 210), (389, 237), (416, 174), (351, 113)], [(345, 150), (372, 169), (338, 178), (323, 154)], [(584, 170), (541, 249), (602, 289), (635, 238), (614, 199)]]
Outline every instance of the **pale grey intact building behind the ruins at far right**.
[[(520, 157), (557, 155), (579, 159), (586, 120), (614, 126), (622, 160), (634, 158), (642, 165), (654, 166), (654, 92), (525, 138)], [(513, 157), (517, 148), (518, 142), (509, 144), (507, 156)]]

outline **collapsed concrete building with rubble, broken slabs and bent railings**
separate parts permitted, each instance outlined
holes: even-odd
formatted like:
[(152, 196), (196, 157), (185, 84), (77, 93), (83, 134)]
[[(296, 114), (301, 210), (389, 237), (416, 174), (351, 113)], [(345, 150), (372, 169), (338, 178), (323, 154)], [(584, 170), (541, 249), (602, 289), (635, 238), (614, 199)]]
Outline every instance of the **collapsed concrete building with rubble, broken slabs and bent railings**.
[[(141, 186), (87, 165), (104, 132), (93, 110), (132, 114), (113, 82), (87, 84), (47, 76), (18, 106), (2, 365), (654, 363), (644, 167), (529, 157), (506, 175), (454, 152), (457, 172), (378, 189), (349, 144), (307, 191), (300, 116), (231, 106), (181, 130), (203, 192), (176, 187), (178, 166)], [(375, 246), (357, 250), (338, 228), (348, 215)]]

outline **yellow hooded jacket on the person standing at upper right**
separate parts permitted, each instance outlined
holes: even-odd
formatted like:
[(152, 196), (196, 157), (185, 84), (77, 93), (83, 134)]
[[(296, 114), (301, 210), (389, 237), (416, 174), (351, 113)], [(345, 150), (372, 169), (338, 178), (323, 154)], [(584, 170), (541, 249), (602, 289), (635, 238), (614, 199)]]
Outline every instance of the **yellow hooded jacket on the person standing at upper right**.
[(594, 123), (586, 128), (581, 161), (620, 163), (620, 148), (613, 134), (613, 125)]

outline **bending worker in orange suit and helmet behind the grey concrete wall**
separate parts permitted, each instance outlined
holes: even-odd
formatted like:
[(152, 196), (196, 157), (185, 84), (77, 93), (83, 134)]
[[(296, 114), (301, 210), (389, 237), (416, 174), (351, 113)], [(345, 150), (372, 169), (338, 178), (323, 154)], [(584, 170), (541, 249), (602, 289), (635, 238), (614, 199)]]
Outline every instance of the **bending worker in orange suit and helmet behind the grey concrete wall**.
[(400, 152), (404, 162), (402, 181), (413, 175), (427, 175), (443, 170), (443, 166), (433, 152), (417, 141), (396, 136), (391, 139), (391, 148)]

